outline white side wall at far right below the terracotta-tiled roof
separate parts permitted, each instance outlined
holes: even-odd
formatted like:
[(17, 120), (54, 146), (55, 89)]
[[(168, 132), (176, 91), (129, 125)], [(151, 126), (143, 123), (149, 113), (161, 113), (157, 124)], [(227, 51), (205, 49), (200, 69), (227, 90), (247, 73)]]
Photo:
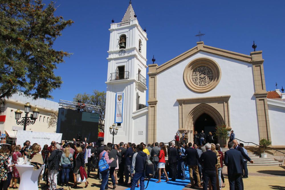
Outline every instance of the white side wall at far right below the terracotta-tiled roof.
[(285, 107), (275, 107), (268, 104), (268, 114), (271, 130), (272, 146), (284, 145)]

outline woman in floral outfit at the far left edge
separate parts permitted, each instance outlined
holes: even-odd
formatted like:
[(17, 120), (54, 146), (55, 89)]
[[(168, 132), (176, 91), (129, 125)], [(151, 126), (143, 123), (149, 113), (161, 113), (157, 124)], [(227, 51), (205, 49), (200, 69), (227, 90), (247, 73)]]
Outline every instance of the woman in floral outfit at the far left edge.
[(4, 144), (0, 149), (0, 190), (8, 189), (8, 176), (7, 176), (7, 166), (8, 166), (8, 158), (9, 153), (11, 151), (11, 146)]

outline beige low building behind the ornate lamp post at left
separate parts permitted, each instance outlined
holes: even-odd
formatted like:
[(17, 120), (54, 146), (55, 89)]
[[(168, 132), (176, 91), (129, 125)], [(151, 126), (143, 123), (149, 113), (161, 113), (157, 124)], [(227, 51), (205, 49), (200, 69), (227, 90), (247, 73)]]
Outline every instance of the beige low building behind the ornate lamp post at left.
[[(37, 99), (34, 100), (31, 97), (23, 95), (21, 92), (18, 94), (12, 95), (9, 99), (6, 100), (5, 106), (1, 107), (0, 115), (0, 131), (1, 133), (6, 134), (7, 142), (15, 140), (17, 138), (17, 130), (23, 130), (23, 125), (18, 125), (15, 119), (15, 111), (20, 109), (22, 111), (21, 117), (25, 117), (25, 107), (24, 105), (29, 102), (32, 106), (30, 109), (30, 116), (35, 108), (38, 108), (39, 115), (34, 124), (27, 126), (26, 130), (29, 131), (38, 131), (38, 132), (56, 132), (56, 124), (52, 127), (48, 127), (48, 121), (51, 118), (53, 111), (57, 111), (60, 107), (57, 102), (46, 100), (46, 99)], [(22, 119), (19, 119), (21, 121)]]

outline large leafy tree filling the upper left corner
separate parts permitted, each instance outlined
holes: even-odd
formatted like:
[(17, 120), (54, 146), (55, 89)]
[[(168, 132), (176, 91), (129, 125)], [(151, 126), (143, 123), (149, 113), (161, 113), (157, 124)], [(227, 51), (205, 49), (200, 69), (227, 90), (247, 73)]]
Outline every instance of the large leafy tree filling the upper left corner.
[(73, 21), (54, 16), (54, 2), (0, 0), (0, 100), (17, 91), (37, 98), (52, 98), (62, 79), (54, 74), (57, 64), (70, 53), (52, 48)]

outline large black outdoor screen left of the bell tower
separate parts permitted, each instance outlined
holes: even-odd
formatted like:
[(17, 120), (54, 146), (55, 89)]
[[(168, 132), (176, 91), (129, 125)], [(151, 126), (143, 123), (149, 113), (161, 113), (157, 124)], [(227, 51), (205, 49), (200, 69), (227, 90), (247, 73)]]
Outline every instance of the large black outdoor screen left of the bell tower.
[(57, 133), (62, 133), (62, 140), (72, 140), (77, 138), (77, 134), (82, 135), (87, 141), (96, 142), (98, 140), (99, 115), (71, 109), (58, 109)]

